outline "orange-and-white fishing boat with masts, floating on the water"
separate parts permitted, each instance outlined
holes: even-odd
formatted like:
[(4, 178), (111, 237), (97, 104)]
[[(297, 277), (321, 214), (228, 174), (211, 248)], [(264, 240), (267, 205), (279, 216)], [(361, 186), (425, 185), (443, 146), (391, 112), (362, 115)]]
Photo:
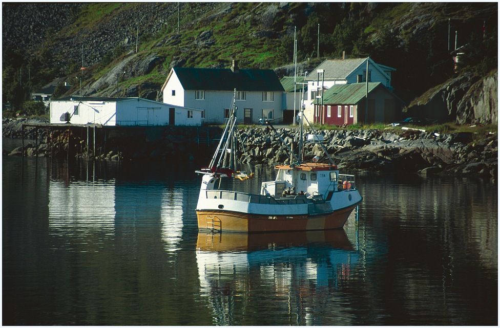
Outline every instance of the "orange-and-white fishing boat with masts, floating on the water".
[[(259, 194), (220, 189), (221, 179), (241, 183), (256, 179), (249, 167), (249, 171), (236, 170), (236, 147), (243, 144), (236, 125), (236, 91), (230, 113), (210, 165), (196, 171), (203, 176), (196, 206), (198, 228), (243, 233), (342, 228), (363, 199), (355, 176), (340, 173), (316, 134), (307, 139), (323, 148), (329, 163), (320, 163), (319, 156), (303, 162), (302, 120), (299, 155), (277, 134), (290, 153), (290, 163), (277, 165), (276, 179), (263, 181)], [(263, 123), (276, 132), (269, 121)]]

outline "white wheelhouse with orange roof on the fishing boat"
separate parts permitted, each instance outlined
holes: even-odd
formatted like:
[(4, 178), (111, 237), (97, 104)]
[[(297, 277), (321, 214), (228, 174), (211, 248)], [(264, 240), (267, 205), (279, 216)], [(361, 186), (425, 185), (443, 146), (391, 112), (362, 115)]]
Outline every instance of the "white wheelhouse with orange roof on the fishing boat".
[(262, 183), (262, 195), (275, 198), (305, 195), (308, 198), (329, 200), (332, 192), (355, 188), (354, 176), (339, 174), (335, 165), (306, 163), (278, 165), (276, 168), (276, 180)]

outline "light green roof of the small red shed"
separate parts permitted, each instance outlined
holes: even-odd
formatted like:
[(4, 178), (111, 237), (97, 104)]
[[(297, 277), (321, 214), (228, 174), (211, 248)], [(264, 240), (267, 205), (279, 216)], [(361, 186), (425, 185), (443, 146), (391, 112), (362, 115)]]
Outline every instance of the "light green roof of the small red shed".
[[(380, 82), (368, 82), (368, 93), (381, 86)], [(323, 104), (346, 104), (358, 103), (366, 96), (366, 82), (335, 84), (326, 90), (323, 95)], [(315, 104), (321, 104), (321, 99), (316, 98)]]

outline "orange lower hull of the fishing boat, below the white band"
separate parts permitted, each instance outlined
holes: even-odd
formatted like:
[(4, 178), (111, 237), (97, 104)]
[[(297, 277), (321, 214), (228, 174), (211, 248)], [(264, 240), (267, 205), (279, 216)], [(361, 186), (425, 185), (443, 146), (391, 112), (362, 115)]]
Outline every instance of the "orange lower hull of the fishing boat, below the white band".
[(267, 216), (228, 211), (198, 210), (198, 228), (228, 232), (273, 232), (330, 230), (344, 227), (350, 213), (358, 204), (344, 209), (312, 215)]

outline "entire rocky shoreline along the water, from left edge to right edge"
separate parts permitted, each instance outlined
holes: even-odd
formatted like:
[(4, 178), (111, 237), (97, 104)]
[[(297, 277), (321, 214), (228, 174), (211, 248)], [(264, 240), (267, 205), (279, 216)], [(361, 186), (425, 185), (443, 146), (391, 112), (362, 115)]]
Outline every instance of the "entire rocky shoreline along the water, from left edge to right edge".
[[(19, 138), (20, 123), (3, 121), (3, 137)], [(17, 130), (19, 129), (19, 131)], [(205, 160), (210, 158), (220, 134), (220, 127), (203, 127), (210, 135), (210, 145), (200, 144), (196, 127), (150, 127), (137, 129), (135, 133), (108, 135), (95, 150), (85, 146), (85, 140), (76, 136), (70, 139), (70, 157), (97, 160)], [(472, 133), (438, 133), (420, 130), (364, 129), (322, 130), (325, 150), (334, 163), (344, 171), (406, 172), (423, 175), (462, 176), (489, 179), (496, 182), (498, 176), (498, 136), (493, 132), (483, 136)], [(304, 135), (313, 134), (306, 130)], [(153, 136), (154, 135), (154, 136)], [(281, 127), (276, 133), (269, 128), (247, 127), (240, 129), (243, 149), (237, 151), (241, 163), (283, 164), (290, 161), (288, 151), (280, 138), (297, 151), (299, 130)], [(279, 135), (280, 138), (277, 136)], [(25, 138), (32, 138), (25, 131)], [(479, 137), (479, 138), (477, 138)], [(102, 138), (101, 138), (102, 139)], [(55, 156), (68, 157), (67, 136), (57, 136), (53, 152), (47, 144), (47, 136), (38, 136), (39, 144), (28, 143), (24, 149), (18, 147), (10, 156)], [(479, 140), (479, 141), (474, 141)], [(78, 151), (78, 146), (80, 151)], [(92, 147), (89, 147), (92, 148)], [(72, 150), (73, 149), (73, 150)], [(246, 154), (246, 156), (245, 156)], [(318, 143), (306, 143), (305, 160), (318, 156), (319, 162), (327, 157)]]

